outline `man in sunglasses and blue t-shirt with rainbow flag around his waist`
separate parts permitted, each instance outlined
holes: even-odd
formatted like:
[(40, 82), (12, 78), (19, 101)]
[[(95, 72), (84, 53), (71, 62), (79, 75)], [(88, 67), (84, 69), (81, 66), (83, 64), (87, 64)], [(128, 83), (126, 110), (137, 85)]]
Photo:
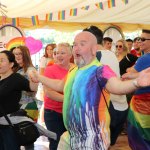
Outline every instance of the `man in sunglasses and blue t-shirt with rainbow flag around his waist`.
[[(130, 72), (123, 75), (124, 79), (133, 79), (139, 75), (139, 72), (150, 67), (150, 30), (142, 30), (139, 41), (144, 55), (138, 58)], [(150, 86), (136, 90), (131, 99), (128, 139), (132, 150), (150, 149)]]

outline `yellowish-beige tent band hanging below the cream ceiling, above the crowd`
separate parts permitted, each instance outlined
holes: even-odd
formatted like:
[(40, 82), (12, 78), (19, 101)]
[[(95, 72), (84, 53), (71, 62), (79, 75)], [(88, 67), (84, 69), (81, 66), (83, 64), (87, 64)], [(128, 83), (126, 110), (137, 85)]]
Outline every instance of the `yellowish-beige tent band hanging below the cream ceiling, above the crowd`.
[[(0, 17), (0, 20), (2, 18)], [(12, 24), (11, 18), (6, 18), (6, 24)], [(0, 26), (2, 22), (0, 22)], [(78, 23), (78, 22), (59, 22), (59, 21), (39, 21), (39, 26), (33, 26), (32, 20), (30, 18), (19, 18), (19, 27), (21, 29), (38, 29), (38, 28), (48, 28), (48, 29), (56, 29), (58, 31), (64, 32), (72, 32), (76, 30), (82, 30), (83, 28), (89, 27), (90, 25), (96, 25), (102, 30), (110, 26), (116, 26), (120, 28), (123, 32), (134, 32), (141, 29), (149, 29), (150, 25), (146, 24), (130, 24), (130, 23)]]

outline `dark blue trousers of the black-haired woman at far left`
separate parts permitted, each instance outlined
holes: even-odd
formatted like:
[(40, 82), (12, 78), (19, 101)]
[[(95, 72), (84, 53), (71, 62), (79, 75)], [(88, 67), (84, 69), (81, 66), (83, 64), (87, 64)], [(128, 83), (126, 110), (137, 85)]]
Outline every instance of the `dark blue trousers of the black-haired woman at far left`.
[(20, 150), (14, 131), (10, 127), (0, 127), (0, 150)]

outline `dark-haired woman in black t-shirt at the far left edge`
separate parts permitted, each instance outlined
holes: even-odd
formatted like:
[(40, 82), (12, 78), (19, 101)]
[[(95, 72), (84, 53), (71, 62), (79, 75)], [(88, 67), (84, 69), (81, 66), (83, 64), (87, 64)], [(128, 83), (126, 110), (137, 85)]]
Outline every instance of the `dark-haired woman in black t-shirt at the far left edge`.
[[(15, 56), (10, 51), (0, 52), (0, 106), (13, 124), (22, 119), (11, 116), (20, 109), (19, 101), (22, 91), (36, 91), (36, 83), (32, 83), (22, 75), (15, 73), (18, 67)], [(32, 121), (26, 117), (26, 121)], [(14, 131), (8, 126), (0, 110), (0, 150), (20, 150), (20, 145), (15, 137)]]

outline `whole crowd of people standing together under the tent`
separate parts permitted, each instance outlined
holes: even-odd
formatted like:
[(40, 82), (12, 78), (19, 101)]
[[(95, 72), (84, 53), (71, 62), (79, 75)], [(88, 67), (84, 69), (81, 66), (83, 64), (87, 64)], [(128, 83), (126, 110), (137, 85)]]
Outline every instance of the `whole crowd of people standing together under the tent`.
[[(123, 128), (132, 150), (149, 150), (150, 30), (118, 40), (115, 53), (112, 42), (90, 26), (75, 36), (73, 46), (48, 44), (38, 71), (26, 46), (0, 52), (5, 114), (13, 120), (11, 114), (23, 109), (34, 122), (43, 114), (47, 130), (57, 134), (57, 140), (49, 138), (50, 150), (107, 150)], [(35, 97), (39, 83), (43, 111)], [(1, 110), (0, 141), (0, 150), (20, 149)], [(34, 143), (25, 149), (34, 150)]]

